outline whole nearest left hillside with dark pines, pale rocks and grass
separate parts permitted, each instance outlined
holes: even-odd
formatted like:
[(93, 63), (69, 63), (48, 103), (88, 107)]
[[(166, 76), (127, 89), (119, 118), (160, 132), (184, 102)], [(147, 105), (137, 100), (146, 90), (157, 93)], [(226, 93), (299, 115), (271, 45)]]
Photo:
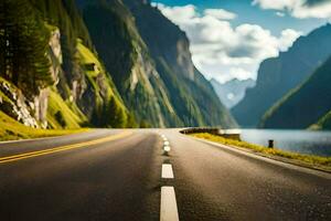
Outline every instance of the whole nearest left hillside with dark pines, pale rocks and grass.
[(32, 127), (135, 126), (75, 1), (1, 3), (1, 112)]

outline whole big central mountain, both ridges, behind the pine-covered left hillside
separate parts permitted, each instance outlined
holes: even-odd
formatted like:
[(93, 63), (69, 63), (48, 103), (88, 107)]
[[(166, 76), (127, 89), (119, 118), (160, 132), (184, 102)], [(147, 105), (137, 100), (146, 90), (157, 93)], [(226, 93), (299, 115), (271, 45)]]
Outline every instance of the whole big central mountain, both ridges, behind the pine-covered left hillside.
[(235, 126), (193, 65), (185, 33), (148, 1), (85, 2), (83, 15), (98, 54), (138, 122), (156, 127)]

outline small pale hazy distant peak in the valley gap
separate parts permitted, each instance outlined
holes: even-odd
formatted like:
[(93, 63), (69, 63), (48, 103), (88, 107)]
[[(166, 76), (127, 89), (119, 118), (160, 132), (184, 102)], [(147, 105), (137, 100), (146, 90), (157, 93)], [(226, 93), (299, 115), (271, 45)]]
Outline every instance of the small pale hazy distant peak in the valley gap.
[(254, 80), (231, 80), (221, 84), (217, 80), (212, 78), (211, 84), (213, 85), (217, 96), (220, 97), (221, 102), (227, 107), (232, 108), (238, 102), (241, 102), (245, 94), (246, 90), (255, 86)]

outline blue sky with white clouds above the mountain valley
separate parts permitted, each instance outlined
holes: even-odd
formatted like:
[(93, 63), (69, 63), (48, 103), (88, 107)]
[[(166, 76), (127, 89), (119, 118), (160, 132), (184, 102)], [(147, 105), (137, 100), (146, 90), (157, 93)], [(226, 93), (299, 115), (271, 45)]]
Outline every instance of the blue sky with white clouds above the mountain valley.
[(331, 0), (153, 0), (191, 42), (195, 66), (221, 83), (258, 66), (331, 19)]

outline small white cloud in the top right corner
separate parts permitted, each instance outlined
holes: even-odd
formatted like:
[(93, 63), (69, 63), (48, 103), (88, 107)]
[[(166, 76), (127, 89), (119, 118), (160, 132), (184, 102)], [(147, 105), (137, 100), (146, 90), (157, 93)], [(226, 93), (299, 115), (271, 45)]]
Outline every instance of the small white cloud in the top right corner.
[(330, 0), (254, 0), (253, 4), (258, 4), (263, 9), (288, 11), (299, 19), (331, 18)]

